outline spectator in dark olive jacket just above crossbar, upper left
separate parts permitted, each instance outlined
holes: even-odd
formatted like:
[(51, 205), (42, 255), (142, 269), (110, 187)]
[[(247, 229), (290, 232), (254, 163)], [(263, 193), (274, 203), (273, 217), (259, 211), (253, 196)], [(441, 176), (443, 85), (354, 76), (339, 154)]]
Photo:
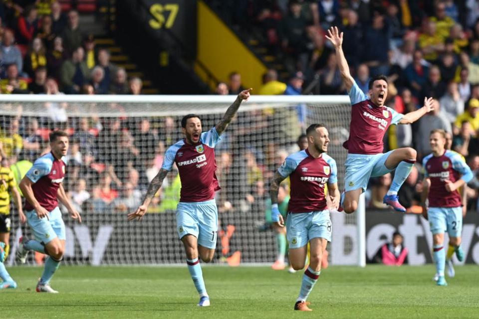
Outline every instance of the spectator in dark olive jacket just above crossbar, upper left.
[(61, 65), (61, 86), (66, 94), (80, 94), (82, 86), (88, 82), (89, 70), (84, 56), (85, 51), (79, 46), (72, 58)]

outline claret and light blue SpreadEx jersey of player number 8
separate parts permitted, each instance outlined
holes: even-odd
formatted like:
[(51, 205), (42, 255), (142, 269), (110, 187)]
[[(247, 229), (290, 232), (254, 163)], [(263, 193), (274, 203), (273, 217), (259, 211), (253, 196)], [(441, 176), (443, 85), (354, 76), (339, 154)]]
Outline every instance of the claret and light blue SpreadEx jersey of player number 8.
[(291, 193), (288, 212), (303, 213), (326, 209), (324, 186), (337, 182), (336, 161), (323, 153), (313, 158), (308, 150), (291, 154), (279, 167), (278, 173), (289, 176)]

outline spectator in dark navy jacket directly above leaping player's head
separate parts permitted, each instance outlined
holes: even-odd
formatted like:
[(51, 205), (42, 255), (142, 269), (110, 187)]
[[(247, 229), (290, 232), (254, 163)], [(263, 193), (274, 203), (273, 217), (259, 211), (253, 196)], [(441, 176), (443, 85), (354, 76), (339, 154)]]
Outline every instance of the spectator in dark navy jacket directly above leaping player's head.
[(371, 76), (388, 74), (390, 28), (384, 15), (374, 12), (373, 21), (364, 31), (363, 60), (369, 66)]

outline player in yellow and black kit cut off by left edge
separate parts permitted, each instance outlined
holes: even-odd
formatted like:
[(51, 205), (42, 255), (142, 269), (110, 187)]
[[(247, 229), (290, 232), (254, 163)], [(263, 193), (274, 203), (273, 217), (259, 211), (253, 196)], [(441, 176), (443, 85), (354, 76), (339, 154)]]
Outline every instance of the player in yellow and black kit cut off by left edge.
[(5, 265), (3, 264), (4, 261), (6, 261), (10, 250), (8, 243), (10, 242), (11, 219), (10, 194), (8, 194), (8, 189), (10, 190), (11, 197), (18, 208), (18, 217), (22, 224), (26, 222), (26, 217), (23, 214), (21, 197), (16, 188), (13, 172), (8, 167), (1, 166), (1, 160), (2, 158), (0, 155), (0, 278), (2, 280), (0, 283), (0, 289), (4, 289), (16, 288), (16, 283), (10, 277), (5, 269)]

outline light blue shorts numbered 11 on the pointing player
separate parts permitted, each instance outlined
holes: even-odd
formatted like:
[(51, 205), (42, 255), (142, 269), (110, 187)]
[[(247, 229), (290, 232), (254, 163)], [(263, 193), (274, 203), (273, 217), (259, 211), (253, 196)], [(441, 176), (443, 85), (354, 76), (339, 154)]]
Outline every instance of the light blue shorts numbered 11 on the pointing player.
[(179, 202), (176, 208), (178, 237), (193, 235), (198, 244), (214, 249), (218, 235), (218, 208), (214, 199), (185, 203)]

